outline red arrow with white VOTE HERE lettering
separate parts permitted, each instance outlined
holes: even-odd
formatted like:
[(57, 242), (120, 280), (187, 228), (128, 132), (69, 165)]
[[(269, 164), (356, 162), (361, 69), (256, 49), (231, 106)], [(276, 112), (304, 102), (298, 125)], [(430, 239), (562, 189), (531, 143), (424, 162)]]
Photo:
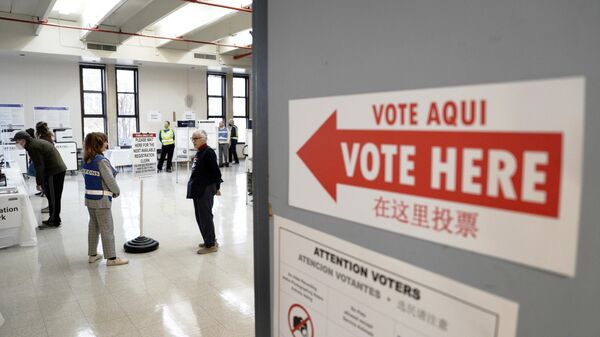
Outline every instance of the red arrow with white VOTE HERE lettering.
[(561, 133), (340, 130), (337, 111), (297, 155), (337, 185), (557, 217)]

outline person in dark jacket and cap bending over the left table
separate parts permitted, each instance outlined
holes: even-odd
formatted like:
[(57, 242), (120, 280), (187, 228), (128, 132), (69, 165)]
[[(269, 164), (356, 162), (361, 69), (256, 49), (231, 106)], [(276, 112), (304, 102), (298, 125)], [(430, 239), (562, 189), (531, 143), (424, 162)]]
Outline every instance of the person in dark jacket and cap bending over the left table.
[(52, 143), (41, 139), (34, 139), (25, 132), (19, 131), (13, 138), (17, 147), (27, 150), (27, 154), (35, 166), (35, 181), (37, 190), (47, 191), (48, 206), (50, 207), (50, 218), (42, 221), (39, 229), (56, 228), (61, 225), (60, 201), (65, 182), (67, 167), (60, 157), (58, 150)]

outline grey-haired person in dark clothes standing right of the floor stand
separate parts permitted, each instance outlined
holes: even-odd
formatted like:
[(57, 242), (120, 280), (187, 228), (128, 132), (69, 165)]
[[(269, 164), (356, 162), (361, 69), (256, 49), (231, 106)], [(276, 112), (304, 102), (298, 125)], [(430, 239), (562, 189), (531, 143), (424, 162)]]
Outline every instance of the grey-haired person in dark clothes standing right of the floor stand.
[(194, 201), (194, 214), (204, 243), (199, 245), (198, 254), (214, 253), (219, 245), (215, 238), (212, 207), (214, 196), (221, 195), (221, 170), (217, 164), (217, 155), (206, 144), (206, 132), (195, 131), (192, 143), (198, 152), (192, 164), (192, 175), (188, 181), (187, 198)]

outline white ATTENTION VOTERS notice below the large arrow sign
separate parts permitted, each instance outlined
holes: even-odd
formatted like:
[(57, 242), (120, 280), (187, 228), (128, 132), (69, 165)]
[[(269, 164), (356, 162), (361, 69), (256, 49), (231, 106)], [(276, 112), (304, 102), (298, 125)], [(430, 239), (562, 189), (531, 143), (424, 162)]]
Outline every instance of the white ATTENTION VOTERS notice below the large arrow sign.
[(518, 305), (275, 216), (280, 337), (514, 337)]

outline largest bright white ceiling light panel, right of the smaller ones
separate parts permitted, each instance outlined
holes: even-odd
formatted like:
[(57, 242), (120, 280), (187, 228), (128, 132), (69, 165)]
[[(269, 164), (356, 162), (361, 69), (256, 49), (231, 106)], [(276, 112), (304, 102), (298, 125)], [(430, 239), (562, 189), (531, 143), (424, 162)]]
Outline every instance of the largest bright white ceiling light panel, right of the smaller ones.
[(178, 37), (234, 12), (226, 8), (188, 3), (158, 21), (154, 28), (158, 35)]

